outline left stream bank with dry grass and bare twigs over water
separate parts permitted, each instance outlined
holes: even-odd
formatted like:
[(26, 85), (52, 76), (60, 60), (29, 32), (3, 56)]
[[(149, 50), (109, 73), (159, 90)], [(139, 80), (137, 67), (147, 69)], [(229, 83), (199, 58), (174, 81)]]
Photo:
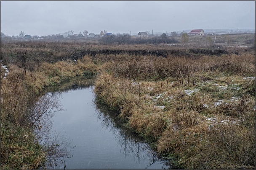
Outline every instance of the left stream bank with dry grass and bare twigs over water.
[[(29, 64), (11, 64), (7, 75), (1, 72), (1, 168), (39, 168), (52, 163), (51, 159), (67, 155), (64, 144), (68, 143), (63, 142), (68, 141), (47, 137), (51, 130), (47, 120), (58, 109), (58, 103), (40, 94), (48, 86), (99, 72), (90, 57), (76, 63), (41, 62), (33, 70), (28, 69)], [(43, 137), (46, 140), (42, 144)]]

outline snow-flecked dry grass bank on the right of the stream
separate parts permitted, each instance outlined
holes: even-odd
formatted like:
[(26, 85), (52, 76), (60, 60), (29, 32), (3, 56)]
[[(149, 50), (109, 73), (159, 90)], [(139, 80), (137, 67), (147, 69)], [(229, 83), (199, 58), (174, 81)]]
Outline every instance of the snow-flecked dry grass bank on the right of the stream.
[(254, 58), (124, 57), (97, 78), (97, 101), (180, 167), (254, 168)]

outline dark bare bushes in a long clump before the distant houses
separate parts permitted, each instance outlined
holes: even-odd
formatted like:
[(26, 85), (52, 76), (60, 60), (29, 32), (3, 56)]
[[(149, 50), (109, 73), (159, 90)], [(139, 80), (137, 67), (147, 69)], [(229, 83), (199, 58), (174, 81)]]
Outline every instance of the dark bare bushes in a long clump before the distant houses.
[(176, 39), (169, 38), (167, 34), (163, 33), (161, 36), (152, 38), (141, 38), (132, 39), (128, 33), (117, 33), (116, 35), (103, 36), (99, 42), (101, 44), (171, 44), (179, 43)]

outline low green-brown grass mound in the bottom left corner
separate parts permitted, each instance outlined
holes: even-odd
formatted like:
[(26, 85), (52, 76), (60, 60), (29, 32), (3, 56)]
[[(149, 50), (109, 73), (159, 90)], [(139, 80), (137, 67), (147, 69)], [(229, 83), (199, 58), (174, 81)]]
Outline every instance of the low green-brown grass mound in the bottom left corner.
[(1, 169), (35, 169), (45, 162), (45, 152), (29, 130), (5, 123), (1, 126)]

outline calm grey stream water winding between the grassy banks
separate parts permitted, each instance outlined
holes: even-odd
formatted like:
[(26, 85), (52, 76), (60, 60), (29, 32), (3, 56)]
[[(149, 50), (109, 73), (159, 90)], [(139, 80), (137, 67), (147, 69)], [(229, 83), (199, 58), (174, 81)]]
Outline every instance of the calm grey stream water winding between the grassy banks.
[(117, 115), (96, 106), (94, 86), (73, 88), (61, 95), (53, 118), (57, 133), (71, 141), (72, 156), (56, 168), (66, 169), (169, 169), (169, 160), (156, 153), (136, 134), (118, 124)]

